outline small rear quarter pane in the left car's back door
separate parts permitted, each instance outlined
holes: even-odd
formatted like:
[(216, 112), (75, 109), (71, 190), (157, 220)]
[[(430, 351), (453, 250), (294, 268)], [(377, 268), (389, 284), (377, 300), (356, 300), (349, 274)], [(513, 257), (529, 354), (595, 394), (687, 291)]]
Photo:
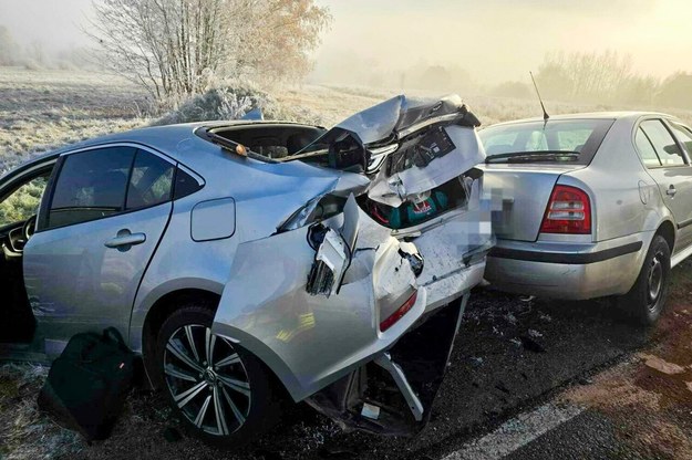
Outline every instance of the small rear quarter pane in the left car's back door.
[(148, 151), (137, 150), (127, 188), (127, 210), (171, 200), (175, 166)]

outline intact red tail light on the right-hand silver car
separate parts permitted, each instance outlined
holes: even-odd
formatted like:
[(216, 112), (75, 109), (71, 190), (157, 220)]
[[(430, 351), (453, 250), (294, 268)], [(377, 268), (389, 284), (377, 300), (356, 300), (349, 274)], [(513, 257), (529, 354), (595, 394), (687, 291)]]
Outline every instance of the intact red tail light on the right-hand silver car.
[(577, 187), (555, 186), (546, 208), (541, 233), (591, 233), (589, 196)]

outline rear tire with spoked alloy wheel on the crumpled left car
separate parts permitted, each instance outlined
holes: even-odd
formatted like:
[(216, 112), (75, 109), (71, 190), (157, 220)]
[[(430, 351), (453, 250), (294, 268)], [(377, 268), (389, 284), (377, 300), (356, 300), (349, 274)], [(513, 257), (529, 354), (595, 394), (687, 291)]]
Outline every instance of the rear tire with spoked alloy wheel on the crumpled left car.
[(162, 388), (192, 436), (240, 447), (279, 421), (282, 398), (259, 359), (211, 334), (213, 320), (210, 307), (192, 303), (163, 323), (156, 347)]

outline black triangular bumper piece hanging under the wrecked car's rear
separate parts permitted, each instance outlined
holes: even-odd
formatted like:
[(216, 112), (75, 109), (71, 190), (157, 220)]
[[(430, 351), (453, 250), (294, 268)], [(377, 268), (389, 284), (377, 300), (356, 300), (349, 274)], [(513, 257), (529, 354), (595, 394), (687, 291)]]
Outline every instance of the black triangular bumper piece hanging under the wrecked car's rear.
[(422, 318), (386, 353), (306, 401), (345, 429), (417, 433), (430, 420), (467, 301), (468, 294)]

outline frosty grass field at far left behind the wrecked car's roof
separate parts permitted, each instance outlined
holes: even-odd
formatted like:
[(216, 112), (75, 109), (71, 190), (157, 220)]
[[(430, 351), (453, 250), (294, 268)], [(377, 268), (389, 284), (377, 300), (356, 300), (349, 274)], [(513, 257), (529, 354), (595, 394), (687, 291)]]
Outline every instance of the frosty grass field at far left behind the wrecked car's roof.
[(132, 84), (85, 71), (0, 67), (0, 172), (64, 144), (145, 123)]

